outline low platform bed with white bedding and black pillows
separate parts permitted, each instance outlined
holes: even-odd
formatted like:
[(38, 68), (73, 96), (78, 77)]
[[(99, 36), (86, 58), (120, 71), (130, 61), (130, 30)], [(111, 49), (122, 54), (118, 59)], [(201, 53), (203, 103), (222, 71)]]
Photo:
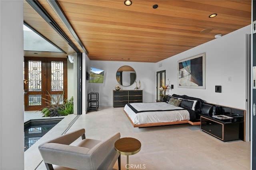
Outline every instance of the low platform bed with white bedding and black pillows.
[[(200, 125), (204, 101), (186, 95), (168, 95), (166, 102), (129, 103), (124, 112), (134, 127), (190, 123)], [(208, 109), (209, 111), (209, 109)]]

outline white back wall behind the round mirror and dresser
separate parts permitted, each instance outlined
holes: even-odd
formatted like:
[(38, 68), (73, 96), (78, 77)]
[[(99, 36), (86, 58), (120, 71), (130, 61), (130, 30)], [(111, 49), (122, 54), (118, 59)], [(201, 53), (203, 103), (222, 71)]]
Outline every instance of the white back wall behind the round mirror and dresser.
[[(137, 83), (140, 81), (140, 89), (143, 90), (143, 102), (154, 102), (156, 100), (155, 63), (90, 61), (89, 59), (87, 59), (86, 62), (86, 70), (89, 73), (90, 67), (104, 70), (103, 83), (88, 83), (88, 81), (86, 81), (87, 93), (90, 93), (91, 87), (93, 88), (93, 91), (99, 92), (100, 106), (113, 106), (113, 90), (116, 84), (118, 84), (116, 81), (116, 71), (124, 65), (128, 65), (135, 70), (136, 81)], [(136, 83), (129, 87), (121, 86), (121, 89), (133, 90), (135, 87)]]

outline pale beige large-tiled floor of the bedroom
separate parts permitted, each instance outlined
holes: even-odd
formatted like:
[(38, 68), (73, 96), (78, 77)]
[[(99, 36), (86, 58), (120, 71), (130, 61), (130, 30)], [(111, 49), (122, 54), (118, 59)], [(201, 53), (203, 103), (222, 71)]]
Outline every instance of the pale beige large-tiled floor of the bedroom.
[[(32, 116), (34, 116), (32, 114)], [(99, 111), (80, 115), (68, 115), (36, 144), (25, 152), (25, 170), (46, 170), (37, 146), (45, 140), (78, 128), (86, 129), (86, 138), (104, 139), (120, 132), (121, 137), (140, 140), (140, 152), (129, 156), (131, 169), (146, 170), (250, 170), (250, 142), (236, 140), (222, 142), (200, 130), (200, 126), (170, 125), (162, 127), (134, 128), (123, 108), (105, 107)], [(36, 118), (38, 119), (38, 118)], [(121, 168), (125, 168), (126, 156), (121, 156)], [(114, 169), (118, 169), (116, 163)]]

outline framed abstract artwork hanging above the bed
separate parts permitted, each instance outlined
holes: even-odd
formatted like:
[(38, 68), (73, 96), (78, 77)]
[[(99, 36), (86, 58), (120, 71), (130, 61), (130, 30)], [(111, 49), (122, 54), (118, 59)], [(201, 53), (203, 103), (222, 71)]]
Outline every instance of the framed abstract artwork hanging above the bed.
[(178, 87), (205, 89), (205, 53), (178, 61)]

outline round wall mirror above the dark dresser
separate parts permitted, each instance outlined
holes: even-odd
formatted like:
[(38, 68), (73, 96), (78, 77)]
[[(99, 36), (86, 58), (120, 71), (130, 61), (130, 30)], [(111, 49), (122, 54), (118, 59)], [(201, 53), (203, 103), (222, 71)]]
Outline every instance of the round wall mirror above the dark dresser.
[(136, 80), (136, 72), (130, 66), (122, 66), (116, 71), (116, 81), (122, 86), (130, 86)]

